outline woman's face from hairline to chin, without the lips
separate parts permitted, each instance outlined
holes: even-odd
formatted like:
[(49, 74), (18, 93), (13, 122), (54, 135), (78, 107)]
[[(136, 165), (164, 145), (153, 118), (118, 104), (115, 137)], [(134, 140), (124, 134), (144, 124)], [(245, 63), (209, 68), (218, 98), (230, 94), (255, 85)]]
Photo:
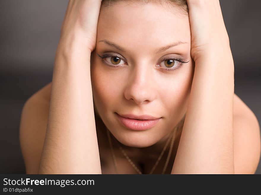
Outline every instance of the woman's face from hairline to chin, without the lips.
[[(179, 8), (169, 9), (158, 3), (121, 1), (99, 15), (91, 60), (93, 100), (106, 127), (130, 147), (160, 143), (187, 109), (194, 74), (190, 23)], [(173, 58), (189, 62), (180, 64)], [(135, 131), (123, 126), (116, 113), (162, 118), (151, 129)]]

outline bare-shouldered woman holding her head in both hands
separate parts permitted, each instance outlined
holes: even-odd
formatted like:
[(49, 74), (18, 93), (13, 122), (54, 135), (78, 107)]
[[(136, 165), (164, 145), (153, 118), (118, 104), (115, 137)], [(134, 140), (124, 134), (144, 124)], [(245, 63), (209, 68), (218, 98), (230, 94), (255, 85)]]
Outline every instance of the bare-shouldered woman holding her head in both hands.
[(20, 142), (28, 174), (254, 173), (219, 1), (69, 1)]

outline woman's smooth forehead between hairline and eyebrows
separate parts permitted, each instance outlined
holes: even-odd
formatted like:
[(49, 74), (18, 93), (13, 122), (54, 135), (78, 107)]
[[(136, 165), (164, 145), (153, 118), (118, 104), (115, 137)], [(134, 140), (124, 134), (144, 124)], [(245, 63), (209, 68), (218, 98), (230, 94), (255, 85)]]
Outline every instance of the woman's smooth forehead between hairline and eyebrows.
[(190, 43), (189, 18), (174, 6), (166, 8), (156, 2), (141, 5), (119, 1), (101, 9), (97, 41), (101, 39), (144, 49), (170, 42)]

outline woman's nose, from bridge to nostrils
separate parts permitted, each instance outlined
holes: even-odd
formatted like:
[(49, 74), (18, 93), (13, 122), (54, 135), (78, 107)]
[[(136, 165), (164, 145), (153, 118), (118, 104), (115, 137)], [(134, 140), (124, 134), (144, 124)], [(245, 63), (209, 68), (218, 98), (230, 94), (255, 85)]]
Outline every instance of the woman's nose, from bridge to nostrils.
[(128, 77), (124, 96), (136, 104), (152, 102), (156, 97), (156, 82), (154, 82), (152, 69), (146, 64), (134, 66)]

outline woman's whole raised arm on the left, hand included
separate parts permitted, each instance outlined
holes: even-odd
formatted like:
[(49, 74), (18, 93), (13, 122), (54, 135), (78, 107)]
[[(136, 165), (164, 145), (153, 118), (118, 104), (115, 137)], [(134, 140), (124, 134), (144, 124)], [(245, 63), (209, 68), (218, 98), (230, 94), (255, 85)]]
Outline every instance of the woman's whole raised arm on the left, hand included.
[(90, 78), (100, 6), (96, 0), (69, 1), (55, 56), (39, 174), (101, 174)]

